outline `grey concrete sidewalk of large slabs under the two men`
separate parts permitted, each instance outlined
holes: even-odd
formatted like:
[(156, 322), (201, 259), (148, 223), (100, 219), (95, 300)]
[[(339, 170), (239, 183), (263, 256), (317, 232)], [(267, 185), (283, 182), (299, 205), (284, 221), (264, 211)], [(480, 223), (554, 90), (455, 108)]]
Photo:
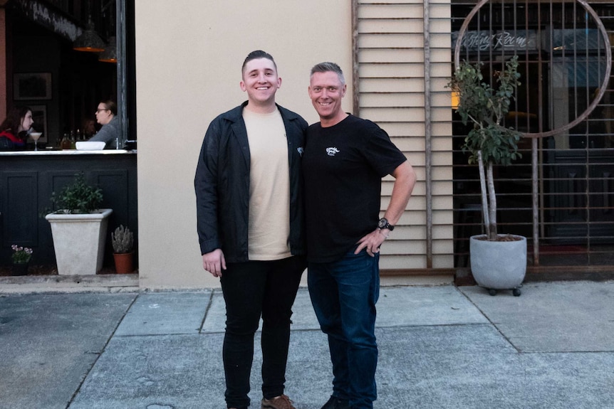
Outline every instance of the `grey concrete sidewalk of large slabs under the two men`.
[[(292, 329), (286, 394), (319, 409), (331, 364), (305, 288)], [(223, 333), (220, 290), (1, 295), (0, 408), (226, 408)], [(378, 409), (614, 408), (614, 282), (383, 287), (376, 334)]]

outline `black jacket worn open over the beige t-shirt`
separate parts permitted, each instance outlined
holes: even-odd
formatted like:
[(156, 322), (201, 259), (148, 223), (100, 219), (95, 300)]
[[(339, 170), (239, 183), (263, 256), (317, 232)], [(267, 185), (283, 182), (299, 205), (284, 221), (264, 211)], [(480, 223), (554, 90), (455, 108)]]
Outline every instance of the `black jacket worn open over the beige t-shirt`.
[[(227, 262), (248, 261), (250, 154), (243, 121), (244, 102), (215, 118), (204, 135), (194, 177), (197, 230), (202, 254), (221, 248)], [(290, 250), (304, 255), (305, 215), (301, 156), (307, 122), (277, 105), (288, 139), (290, 169)]]

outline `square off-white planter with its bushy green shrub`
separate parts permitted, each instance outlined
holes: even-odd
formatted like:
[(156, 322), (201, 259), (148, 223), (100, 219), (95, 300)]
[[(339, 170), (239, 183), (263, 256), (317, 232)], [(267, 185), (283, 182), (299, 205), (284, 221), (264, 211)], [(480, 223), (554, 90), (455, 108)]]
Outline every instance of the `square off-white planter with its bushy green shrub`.
[(113, 213), (98, 208), (102, 201), (103, 192), (88, 185), (83, 172), (58, 195), (51, 195), (58, 210), (45, 218), (51, 223), (58, 274), (95, 275), (102, 270), (108, 218)]

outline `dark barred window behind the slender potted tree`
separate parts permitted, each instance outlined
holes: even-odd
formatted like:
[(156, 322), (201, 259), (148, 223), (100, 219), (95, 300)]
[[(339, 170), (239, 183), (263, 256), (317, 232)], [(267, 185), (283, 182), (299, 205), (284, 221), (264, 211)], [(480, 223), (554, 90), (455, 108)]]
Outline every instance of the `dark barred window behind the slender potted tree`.
[[(453, 53), (476, 4), (452, 4)], [(462, 36), (460, 59), (481, 63), (486, 80), (519, 56), (521, 86), (506, 125), (533, 137), (521, 139), (521, 159), (496, 169), (497, 219), (502, 232), (529, 239), (536, 270), (614, 265), (614, 90), (606, 70), (614, 3), (588, 6), (489, 1)], [(481, 233), (477, 170), (461, 150), (467, 132), (454, 114), (456, 267), (467, 267), (469, 235)]]

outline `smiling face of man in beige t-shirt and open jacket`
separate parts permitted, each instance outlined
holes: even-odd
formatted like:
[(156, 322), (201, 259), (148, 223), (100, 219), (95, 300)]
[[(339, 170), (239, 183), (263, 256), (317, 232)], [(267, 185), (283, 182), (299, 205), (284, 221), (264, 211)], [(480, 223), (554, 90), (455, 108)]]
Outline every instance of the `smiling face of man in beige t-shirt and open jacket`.
[(281, 87), (281, 78), (277, 76), (273, 61), (256, 58), (246, 63), (240, 85), (241, 90), (247, 92), (248, 107), (274, 107), (275, 92)]

